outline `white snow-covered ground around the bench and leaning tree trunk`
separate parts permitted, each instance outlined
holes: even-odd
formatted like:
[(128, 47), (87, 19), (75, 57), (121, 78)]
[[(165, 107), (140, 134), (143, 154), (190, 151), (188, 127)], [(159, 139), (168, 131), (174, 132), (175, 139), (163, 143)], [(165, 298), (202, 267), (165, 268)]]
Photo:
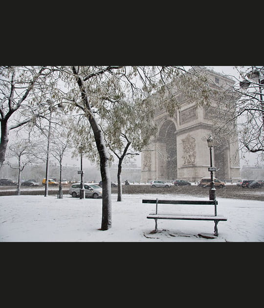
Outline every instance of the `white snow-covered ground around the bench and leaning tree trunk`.
[[(112, 227), (101, 231), (102, 199), (1, 196), (0, 242), (264, 242), (263, 201), (218, 198), (218, 214), (227, 221), (219, 222), (218, 238), (205, 239), (198, 234), (213, 235), (213, 221), (158, 220), (158, 233), (152, 234), (154, 220), (146, 217), (154, 212), (155, 204), (142, 203), (142, 199), (154, 198), (208, 200), (175, 194), (124, 194), (117, 202), (117, 195), (112, 194)], [(173, 208), (160, 205), (165, 212)], [(179, 211), (213, 214), (214, 207), (177, 207)]]

